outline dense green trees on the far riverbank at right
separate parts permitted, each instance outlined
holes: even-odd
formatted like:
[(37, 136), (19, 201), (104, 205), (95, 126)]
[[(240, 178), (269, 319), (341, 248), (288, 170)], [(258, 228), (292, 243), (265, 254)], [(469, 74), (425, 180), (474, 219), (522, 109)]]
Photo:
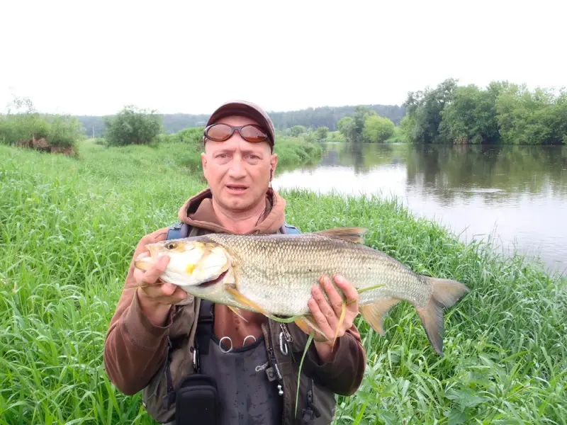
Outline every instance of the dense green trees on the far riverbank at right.
[(409, 142), (567, 144), (567, 91), (493, 81), (485, 89), (455, 79), (410, 92), (401, 128)]

